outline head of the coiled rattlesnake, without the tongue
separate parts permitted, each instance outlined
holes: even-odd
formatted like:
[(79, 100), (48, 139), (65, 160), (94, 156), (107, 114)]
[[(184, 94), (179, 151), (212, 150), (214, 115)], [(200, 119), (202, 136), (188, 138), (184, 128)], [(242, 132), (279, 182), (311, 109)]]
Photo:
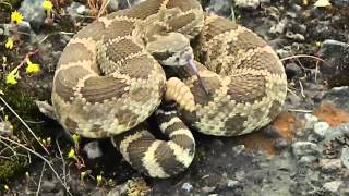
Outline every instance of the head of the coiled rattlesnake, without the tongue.
[(146, 45), (146, 50), (166, 66), (183, 66), (189, 59), (193, 59), (193, 49), (190, 40), (179, 33), (155, 35)]

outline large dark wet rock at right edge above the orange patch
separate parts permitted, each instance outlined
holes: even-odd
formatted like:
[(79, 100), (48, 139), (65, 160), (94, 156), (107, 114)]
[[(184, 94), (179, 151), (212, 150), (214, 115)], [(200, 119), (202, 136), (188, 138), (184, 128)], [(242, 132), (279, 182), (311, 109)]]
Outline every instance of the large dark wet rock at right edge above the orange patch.
[(321, 73), (330, 87), (349, 85), (349, 45), (327, 39), (318, 51), (326, 63), (320, 66)]

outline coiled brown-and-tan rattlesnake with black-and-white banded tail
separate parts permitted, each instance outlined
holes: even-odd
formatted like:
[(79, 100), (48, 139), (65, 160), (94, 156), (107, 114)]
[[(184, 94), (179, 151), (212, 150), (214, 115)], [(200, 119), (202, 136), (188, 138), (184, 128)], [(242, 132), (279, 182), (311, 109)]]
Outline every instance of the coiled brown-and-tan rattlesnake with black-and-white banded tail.
[[(186, 66), (193, 62), (197, 70)], [(70, 40), (51, 98), (65, 130), (112, 137), (133, 168), (169, 177), (193, 160), (190, 128), (250, 133), (279, 113), (286, 93), (281, 62), (254, 33), (205, 14), (196, 0), (147, 0), (96, 20)], [(153, 113), (168, 140), (143, 123)]]

